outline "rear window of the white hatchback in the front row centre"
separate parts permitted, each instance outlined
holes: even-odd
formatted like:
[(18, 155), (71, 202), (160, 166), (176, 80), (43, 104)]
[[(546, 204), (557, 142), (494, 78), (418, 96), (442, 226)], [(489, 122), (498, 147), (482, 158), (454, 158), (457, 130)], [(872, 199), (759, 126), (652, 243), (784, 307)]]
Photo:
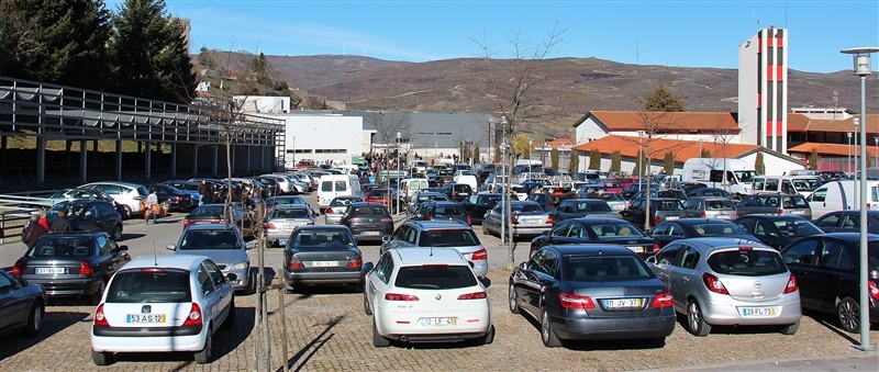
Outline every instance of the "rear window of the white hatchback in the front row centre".
[(453, 290), (476, 285), (472, 269), (455, 264), (401, 267), (393, 282), (399, 288)]

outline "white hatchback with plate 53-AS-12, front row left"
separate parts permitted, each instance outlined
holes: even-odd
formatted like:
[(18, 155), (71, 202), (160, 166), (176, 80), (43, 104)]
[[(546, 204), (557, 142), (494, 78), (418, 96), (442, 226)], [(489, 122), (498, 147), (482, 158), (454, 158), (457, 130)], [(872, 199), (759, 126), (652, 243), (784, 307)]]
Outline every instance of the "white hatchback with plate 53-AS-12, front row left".
[(234, 273), (223, 277), (204, 256), (141, 256), (107, 285), (91, 326), (91, 360), (116, 352), (194, 352), (214, 359), (213, 335), (235, 323)]

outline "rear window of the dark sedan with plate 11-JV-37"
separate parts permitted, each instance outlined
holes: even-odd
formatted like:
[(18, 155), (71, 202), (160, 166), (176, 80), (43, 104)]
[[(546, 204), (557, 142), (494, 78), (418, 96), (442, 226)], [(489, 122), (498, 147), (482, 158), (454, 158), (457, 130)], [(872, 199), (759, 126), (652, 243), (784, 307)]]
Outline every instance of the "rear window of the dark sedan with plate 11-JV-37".
[(565, 256), (561, 272), (569, 281), (650, 279), (653, 273), (634, 256)]

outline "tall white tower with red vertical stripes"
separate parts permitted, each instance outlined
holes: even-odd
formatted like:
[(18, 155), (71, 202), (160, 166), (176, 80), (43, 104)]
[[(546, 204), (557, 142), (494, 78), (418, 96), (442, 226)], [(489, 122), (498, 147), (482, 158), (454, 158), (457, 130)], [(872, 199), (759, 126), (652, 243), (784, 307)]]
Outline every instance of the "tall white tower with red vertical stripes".
[(788, 151), (788, 31), (763, 29), (738, 46), (742, 143)]

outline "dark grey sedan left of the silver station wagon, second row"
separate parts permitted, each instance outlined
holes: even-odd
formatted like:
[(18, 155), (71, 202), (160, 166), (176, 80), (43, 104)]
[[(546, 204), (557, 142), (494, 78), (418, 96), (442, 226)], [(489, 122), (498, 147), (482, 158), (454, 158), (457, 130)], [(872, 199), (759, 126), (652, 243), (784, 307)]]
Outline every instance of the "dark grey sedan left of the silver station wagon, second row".
[(301, 286), (327, 284), (353, 285), (354, 292), (364, 292), (363, 253), (347, 227), (303, 226), (293, 230), (288, 241), (283, 249), (287, 293)]

